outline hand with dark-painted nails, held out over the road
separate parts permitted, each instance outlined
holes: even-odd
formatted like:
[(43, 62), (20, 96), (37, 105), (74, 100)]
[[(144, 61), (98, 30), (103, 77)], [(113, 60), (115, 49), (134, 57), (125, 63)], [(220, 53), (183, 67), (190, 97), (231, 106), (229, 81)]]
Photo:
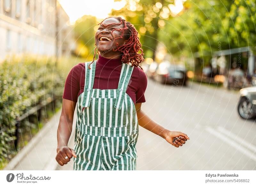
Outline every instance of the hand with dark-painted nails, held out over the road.
[(187, 141), (189, 137), (180, 131), (170, 130), (164, 139), (178, 148), (179, 146), (182, 146), (182, 144), (185, 144), (185, 141)]

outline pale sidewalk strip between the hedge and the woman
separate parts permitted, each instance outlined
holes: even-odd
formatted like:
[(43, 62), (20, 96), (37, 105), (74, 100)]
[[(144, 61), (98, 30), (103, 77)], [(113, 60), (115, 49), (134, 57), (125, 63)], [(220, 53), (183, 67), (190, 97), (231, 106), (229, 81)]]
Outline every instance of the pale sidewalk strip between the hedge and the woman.
[[(46, 125), (36, 134), (36, 136), (34, 136), (29, 141), (29, 143), (23, 149), (21, 149), (18, 155), (10, 161), (4, 170), (56, 169), (56, 167), (59, 165), (55, 160), (55, 157), (57, 148), (57, 129), (60, 120), (60, 113), (61, 110), (56, 112), (56, 114), (46, 123)], [(76, 114), (73, 121), (74, 123), (72, 134), (68, 143), (68, 146), (71, 148), (74, 146)], [(72, 163), (71, 161), (69, 162), (69, 164)]]

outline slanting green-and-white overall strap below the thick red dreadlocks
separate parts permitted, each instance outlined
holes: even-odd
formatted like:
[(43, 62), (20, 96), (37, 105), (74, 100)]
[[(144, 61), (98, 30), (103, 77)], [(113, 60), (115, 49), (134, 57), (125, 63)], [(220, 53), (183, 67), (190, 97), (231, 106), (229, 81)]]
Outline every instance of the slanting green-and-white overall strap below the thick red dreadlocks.
[(121, 75), (116, 92), (115, 108), (120, 110), (124, 101), (125, 92), (132, 75), (133, 66), (123, 63)]

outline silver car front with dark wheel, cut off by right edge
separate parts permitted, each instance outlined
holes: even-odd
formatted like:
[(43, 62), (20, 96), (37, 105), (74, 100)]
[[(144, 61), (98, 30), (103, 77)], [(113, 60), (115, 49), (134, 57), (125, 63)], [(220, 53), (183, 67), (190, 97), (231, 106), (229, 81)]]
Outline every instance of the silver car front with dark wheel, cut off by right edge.
[(248, 87), (240, 90), (240, 99), (237, 107), (239, 116), (243, 119), (251, 119), (256, 116), (256, 87)]

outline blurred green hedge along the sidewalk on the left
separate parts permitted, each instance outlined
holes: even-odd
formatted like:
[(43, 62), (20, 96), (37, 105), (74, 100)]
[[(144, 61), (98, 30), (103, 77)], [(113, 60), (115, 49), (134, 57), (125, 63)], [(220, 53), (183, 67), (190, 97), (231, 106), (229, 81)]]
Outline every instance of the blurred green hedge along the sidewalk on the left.
[[(49, 99), (61, 102), (65, 78), (53, 59), (8, 59), (0, 63), (0, 168), (17, 154), (14, 148), (16, 117)], [(33, 126), (34, 125), (34, 126)], [(41, 122), (20, 122), (20, 130), (31, 131)], [(29, 135), (29, 134), (28, 134)]]

